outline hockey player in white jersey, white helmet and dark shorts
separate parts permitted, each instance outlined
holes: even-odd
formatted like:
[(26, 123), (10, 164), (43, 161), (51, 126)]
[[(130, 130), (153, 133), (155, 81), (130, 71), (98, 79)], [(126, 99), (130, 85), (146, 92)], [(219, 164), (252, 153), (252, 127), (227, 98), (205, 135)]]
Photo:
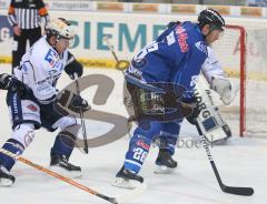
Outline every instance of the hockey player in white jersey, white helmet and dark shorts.
[[(81, 169), (70, 164), (68, 159), (80, 124), (76, 118), (55, 108), (55, 101), (60, 98), (56, 84), (62, 71), (71, 79), (75, 74), (82, 75), (82, 65), (67, 50), (73, 37), (75, 31), (67, 20), (52, 20), (47, 27), (46, 35), (26, 52), (20, 67), (14, 69), (14, 76), (30, 91), (24, 96), (14, 91), (8, 92), (13, 132), (2, 149), (20, 155), (33, 140), (34, 130), (41, 126), (50, 132), (60, 129), (51, 149), (50, 167), (79, 176)], [(76, 95), (73, 100), (76, 108), (88, 110), (89, 105), (83, 99)], [(0, 153), (0, 185), (11, 185), (14, 182), (14, 176), (10, 174), (14, 162), (12, 157)]]

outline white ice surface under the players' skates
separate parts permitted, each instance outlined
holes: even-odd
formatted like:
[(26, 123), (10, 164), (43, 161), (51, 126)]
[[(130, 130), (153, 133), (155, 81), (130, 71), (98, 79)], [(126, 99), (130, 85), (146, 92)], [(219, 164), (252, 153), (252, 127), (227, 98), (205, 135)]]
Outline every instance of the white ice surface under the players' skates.
[[(1, 64), (0, 72), (10, 72), (9, 65)], [(122, 74), (116, 70), (86, 69), (87, 74), (106, 74), (113, 79), (115, 90), (105, 105), (92, 103), (96, 92), (95, 86), (81, 94), (86, 98), (92, 110), (101, 110), (127, 116), (122, 103)], [(59, 88), (63, 88), (71, 81), (66, 74), (59, 81)], [(259, 93), (265, 94), (266, 92)], [(6, 105), (6, 91), (0, 92), (2, 109), (1, 137), (2, 144), (11, 133), (8, 108)], [(230, 124), (231, 125), (231, 124)], [(264, 125), (264, 124), (263, 124)], [(86, 120), (88, 137), (96, 137), (112, 128), (111, 124)], [(53, 144), (55, 133), (44, 130), (36, 131), (34, 141), (26, 150), (23, 157), (49, 166), (50, 147)], [(182, 139), (198, 140), (195, 128), (188, 123), (182, 124)], [(70, 161), (82, 167), (82, 177), (76, 181), (109, 196), (123, 195), (129, 192), (111, 186), (116, 173), (122, 165), (125, 152), (128, 147), (129, 136), (105, 146), (89, 150), (89, 154), (82, 154), (75, 150)], [(220, 173), (222, 182), (230, 186), (254, 187), (253, 196), (238, 196), (221, 192), (214, 175), (206, 152), (202, 147), (186, 147), (177, 150), (175, 159), (178, 167), (172, 174), (155, 174), (155, 160), (157, 147), (151, 147), (150, 154), (140, 174), (148, 185), (146, 192), (131, 201), (132, 204), (265, 204), (267, 190), (267, 140), (263, 136), (239, 137), (234, 135), (227, 145), (214, 146), (211, 154)], [(86, 193), (75, 186), (55, 178), (31, 166), (18, 162), (13, 169), (17, 178), (12, 187), (0, 188), (1, 204), (101, 204), (106, 201)]]

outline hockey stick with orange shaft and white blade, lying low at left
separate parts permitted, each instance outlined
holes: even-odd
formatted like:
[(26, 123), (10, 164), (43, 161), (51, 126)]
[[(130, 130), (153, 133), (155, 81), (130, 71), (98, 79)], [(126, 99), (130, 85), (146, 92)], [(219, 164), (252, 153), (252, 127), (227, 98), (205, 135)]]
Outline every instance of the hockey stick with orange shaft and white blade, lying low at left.
[(78, 183), (78, 182), (76, 182), (76, 181), (73, 181), (73, 180), (71, 180), (69, 177), (66, 177), (66, 176), (63, 176), (61, 174), (58, 174), (58, 173), (56, 173), (56, 172), (53, 172), (51, 170), (46, 169), (46, 167), (43, 167), (43, 166), (41, 166), (39, 164), (36, 164), (36, 163), (33, 163), (33, 162), (31, 162), (31, 161), (29, 161), (29, 160), (27, 160), (27, 159), (24, 159), (24, 157), (22, 157), (20, 155), (13, 154), (12, 152), (9, 152), (9, 151), (7, 151), (4, 149), (0, 149), (0, 152), (6, 154), (6, 155), (8, 155), (8, 156), (10, 156), (10, 157), (12, 157), (12, 159), (14, 159), (14, 160), (18, 160), (18, 161), (22, 162), (22, 163), (24, 163), (24, 164), (27, 164), (27, 165), (29, 165), (31, 167), (34, 167), (34, 169), (37, 169), (37, 170), (39, 170), (41, 172), (44, 172), (44, 173), (47, 173), (47, 174), (49, 174), (49, 175), (51, 175), (51, 176), (53, 176), (53, 177), (56, 177), (58, 180), (61, 180), (62, 182), (66, 182), (66, 183), (72, 185), (72, 186), (76, 186), (76, 187), (78, 187), (80, 190), (83, 190), (87, 193), (90, 193), (90, 194), (96, 195), (96, 196), (98, 196), (98, 197), (100, 197), (102, 200), (106, 200), (109, 203), (119, 204), (119, 203), (129, 202), (129, 201), (136, 198), (138, 195), (140, 195), (147, 188), (146, 183), (142, 183), (140, 186), (138, 186), (137, 188), (132, 190), (128, 194), (125, 194), (125, 195), (118, 196), (118, 197), (110, 197), (110, 196), (103, 195), (103, 194), (101, 194), (101, 193), (99, 193), (99, 192), (97, 192), (97, 191), (95, 191), (95, 190), (92, 190), (90, 187), (87, 187), (87, 186), (85, 186), (85, 185), (82, 185), (82, 184), (80, 184), (80, 183)]

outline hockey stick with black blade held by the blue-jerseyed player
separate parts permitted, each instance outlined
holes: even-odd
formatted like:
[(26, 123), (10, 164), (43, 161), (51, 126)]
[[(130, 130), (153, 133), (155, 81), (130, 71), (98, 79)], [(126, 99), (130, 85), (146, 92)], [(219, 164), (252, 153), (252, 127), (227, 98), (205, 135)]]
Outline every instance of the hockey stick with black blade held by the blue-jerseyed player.
[(202, 142), (202, 146), (204, 146), (204, 149), (207, 153), (210, 165), (214, 170), (215, 176), (217, 178), (217, 182), (219, 183), (219, 186), (220, 186), (221, 191), (225, 192), (225, 193), (231, 193), (231, 194), (235, 194), (235, 195), (245, 195), (245, 196), (253, 195), (254, 194), (254, 188), (251, 188), (251, 187), (235, 187), (235, 186), (225, 185), (222, 183), (222, 181), (220, 178), (220, 175), (219, 175), (219, 172), (218, 172), (218, 170), (215, 165), (215, 162), (214, 162), (212, 155), (210, 153), (210, 150), (208, 147), (208, 143), (207, 143), (205, 136), (202, 135), (202, 131), (201, 131), (200, 126), (198, 125), (198, 123), (196, 124), (196, 128), (197, 128), (198, 134), (199, 134), (199, 136), (201, 139), (201, 142)]

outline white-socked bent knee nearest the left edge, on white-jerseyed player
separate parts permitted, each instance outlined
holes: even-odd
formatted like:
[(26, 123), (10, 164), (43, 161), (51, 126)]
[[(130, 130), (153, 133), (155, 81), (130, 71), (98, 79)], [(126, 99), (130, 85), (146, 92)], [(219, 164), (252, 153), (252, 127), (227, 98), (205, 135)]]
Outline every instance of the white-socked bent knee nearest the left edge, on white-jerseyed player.
[(34, 125), (32, 123), (19, 124), (14, 128), (11, 139), (27, 147), (34, 139)]

